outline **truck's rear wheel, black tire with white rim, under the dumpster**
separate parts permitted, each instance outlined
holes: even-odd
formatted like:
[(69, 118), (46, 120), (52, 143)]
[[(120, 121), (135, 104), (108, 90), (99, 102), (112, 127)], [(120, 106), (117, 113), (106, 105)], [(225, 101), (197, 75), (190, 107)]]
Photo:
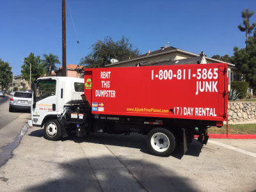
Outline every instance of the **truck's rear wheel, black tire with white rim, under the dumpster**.
[(175, 146), (175, 136), (167, 129), (155, 128), (148, 133), (147, 147), (150, 154), (154, 156), (168, 157)]

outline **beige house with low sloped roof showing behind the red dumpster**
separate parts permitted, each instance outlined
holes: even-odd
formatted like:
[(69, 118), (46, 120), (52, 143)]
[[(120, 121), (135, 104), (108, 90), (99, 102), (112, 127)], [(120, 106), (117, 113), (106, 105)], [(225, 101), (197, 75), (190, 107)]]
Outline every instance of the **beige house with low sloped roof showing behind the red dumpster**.
[[(182, 65), (182, 64), (205, 64), (205, 63), (223, 63), (220, 60), (214, 60), (204, 55), (204, 52), (195, 54), (193, 52), (184, 51), (175, 47), (161, 47), (157, 51), (148, 50), (147, 53), (141, 54), (134, 58), (129, 58), (124, 61), (117, 61), (106, 65), (106, 67), (134, 67), (138, 63), (140, 65)], [(241, 73), (237, 70), (234, 64), (228, 63), (229, 74), (231, 81), (241, 81)]]

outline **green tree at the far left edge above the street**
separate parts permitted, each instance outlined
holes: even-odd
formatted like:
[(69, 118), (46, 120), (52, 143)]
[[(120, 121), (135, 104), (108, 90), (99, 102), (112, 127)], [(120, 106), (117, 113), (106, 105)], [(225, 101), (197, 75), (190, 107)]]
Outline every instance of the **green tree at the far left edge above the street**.
[(4, 62), (0, 59), (0, 86), (1, 90), (8, 90), (10, 83), (10, 78), (12, 78), (12, 67), (9, 66), (10, 63)]

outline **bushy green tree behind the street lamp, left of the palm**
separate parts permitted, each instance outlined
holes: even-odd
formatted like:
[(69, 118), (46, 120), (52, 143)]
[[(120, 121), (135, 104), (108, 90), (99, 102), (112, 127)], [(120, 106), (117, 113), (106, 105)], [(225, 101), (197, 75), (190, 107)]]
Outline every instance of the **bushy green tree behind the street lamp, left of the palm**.
[(31, 63), (31, 82), (35, 81), (40, 76), (44, 76), (45, 68), (41, 63), (40, 56), (35, 56), (33, 52), (31, 52), (27, 58), (24, 58), (24, 64), (21, 66), (22, 77), (24, 77), (26, 81), (29, 81), (29, 63)]

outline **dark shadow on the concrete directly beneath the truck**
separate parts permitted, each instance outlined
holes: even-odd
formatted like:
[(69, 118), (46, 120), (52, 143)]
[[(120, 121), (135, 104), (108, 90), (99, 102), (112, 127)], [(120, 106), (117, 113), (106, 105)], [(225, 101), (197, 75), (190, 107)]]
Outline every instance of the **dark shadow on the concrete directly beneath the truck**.
[[(32, 131), (29, 136), (44, 137), (44, 129), (38, 129)], [(149, 154), (146, 146), (147, 136), (143, 136), (137, 133), (131, 133), (129, 136), (124, 134), (102, 134), (102, 133), (90, 133), (86, 137), (78, 138), (76, 134), (71, 134), (67, 138), (63, 138), (61, 141), (74, 141), (75, 143), (97, 143), (101, 145), (114, 145), (119, 147), (138, 148), (141, 152)], [(198, 157), (202, 150), (202, 144), (196, 140), (188, 144), (188, 151), (184, 154), (183, 143), (178, 143), (177, 147), (171, 154), (172, 157), (182, 159), (184, 155)]]

